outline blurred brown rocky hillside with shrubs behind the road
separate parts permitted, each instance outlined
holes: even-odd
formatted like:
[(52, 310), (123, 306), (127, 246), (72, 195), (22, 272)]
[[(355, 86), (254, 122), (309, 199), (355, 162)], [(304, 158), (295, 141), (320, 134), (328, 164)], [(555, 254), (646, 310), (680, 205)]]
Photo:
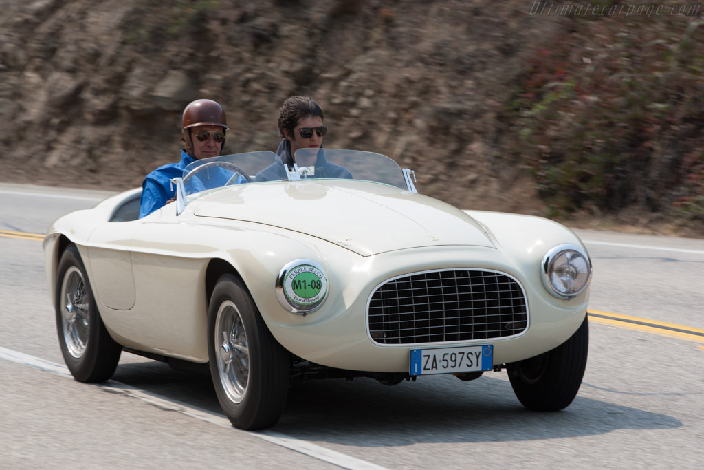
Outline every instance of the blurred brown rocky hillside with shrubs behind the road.
[(225, 107), (227, 152), (274, 150), (280, 104), (308, 94), (327, 147), (387, 154), (452, 204), (700, 230), (698, 16), (535, 6), (4, 0), (0, 179), (140, 185), (196, 98)]

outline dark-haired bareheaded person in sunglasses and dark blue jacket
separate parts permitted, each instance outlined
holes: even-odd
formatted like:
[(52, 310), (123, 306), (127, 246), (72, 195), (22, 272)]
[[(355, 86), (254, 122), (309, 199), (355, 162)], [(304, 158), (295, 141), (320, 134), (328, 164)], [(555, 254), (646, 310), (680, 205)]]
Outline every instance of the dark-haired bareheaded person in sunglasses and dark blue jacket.
[(293, 169), (294, 162), (304, 178), (352, 178), (344, 166), (329, 163), (323, 151), (313, 161), (296, 161), (296, 150), (322, 149), (327, 128), (322, 125), (322, 109), (309, 97), (290, 97), (279, 109), (279, 135), (283, 140), (276, 151), (276, 161), (260, 171), (255, 181), (286, 180), (284, 164)]

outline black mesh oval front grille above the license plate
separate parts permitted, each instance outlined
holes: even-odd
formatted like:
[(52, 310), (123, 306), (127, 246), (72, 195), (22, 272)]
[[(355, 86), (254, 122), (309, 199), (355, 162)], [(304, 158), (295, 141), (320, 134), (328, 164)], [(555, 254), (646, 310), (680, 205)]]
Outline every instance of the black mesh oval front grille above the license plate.
[(388, 280), (372, 294), (367, 315), (371, 338), (384, 345), (503, 338), (528, 326), (520, 284), (473, 269)]

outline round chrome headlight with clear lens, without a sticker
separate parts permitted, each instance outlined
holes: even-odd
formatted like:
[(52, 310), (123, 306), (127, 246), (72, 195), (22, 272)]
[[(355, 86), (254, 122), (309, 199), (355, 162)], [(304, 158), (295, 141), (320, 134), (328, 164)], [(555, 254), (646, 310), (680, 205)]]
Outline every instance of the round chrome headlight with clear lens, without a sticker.
[(559, 245), (543, 257), (543, 284), (560, 299), (572, 299), (591, 280), (591, 261), (580, 247)]

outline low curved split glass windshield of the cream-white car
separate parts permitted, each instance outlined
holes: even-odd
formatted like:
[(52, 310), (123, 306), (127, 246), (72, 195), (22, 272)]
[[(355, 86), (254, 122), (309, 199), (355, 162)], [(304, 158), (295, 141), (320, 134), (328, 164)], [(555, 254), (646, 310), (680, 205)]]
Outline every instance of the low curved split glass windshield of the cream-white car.
[(298, 149), (296, 166), (284, 165), (272, 151), (214, 156), (194, 161), (184, 169), (185, 195), (228, 185), (311, 179), (363, 180), (407, 190), (398, 163), (370, 151)]

